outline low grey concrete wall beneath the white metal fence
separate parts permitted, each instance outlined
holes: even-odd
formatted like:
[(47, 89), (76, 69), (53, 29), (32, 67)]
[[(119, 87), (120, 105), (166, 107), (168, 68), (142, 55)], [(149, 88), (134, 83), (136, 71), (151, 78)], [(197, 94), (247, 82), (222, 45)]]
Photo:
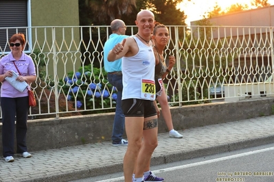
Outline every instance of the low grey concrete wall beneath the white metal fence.
[[(247, 99), (231, 103), (208, 103), (172, 107), (173, 125), (176, 130), (203, 127), (269, 116), (274, 114), (274, 99)], [(111, 141), (114, 113), (73, 116), (59, 119), (29, 120), (27, 146), (30, 152), (65, 146)], [(162, 116), (159, 133), (167, 132)], [(0, 125), (0, 133), (2, 125)], [(126, 136), (125, 136), (126, 138)], [(0, 141), (2, 141), (0, 136)], [(0, 154), (2, 146), (0, 146)]]

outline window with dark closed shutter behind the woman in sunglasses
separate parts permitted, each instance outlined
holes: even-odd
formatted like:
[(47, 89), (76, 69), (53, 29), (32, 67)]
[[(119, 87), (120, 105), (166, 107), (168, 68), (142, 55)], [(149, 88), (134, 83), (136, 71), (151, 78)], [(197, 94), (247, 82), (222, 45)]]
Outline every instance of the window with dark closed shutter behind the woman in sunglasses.
[(0, 53), (3, 54), (10, 51), (8, 40), (13, 34), (23, 33), (27, 40), (30, 0), (4, 0), (0, 1), (0, 7)]

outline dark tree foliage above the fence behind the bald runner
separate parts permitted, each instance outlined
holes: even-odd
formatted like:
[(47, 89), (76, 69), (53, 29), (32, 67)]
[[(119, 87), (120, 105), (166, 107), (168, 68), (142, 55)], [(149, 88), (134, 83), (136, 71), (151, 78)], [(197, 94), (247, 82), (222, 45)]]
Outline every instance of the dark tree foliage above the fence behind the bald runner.
[(151, 10), (165, 25), (185, 25), (187, 16), (176, 8), (182, 1), (190, 0), (79, 0), (80, 25), (109, 25), (115, 18), (135, 25), (140, 10)]

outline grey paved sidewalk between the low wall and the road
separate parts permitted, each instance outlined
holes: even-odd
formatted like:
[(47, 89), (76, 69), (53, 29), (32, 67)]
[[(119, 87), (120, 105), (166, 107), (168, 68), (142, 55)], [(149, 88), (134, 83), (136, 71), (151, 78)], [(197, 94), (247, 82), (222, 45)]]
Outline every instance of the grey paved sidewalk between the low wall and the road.
[[(227, 122), (180, 131), (182, 139), (159, 134), (152, 165), (233, 151), (274, 141), (274, 116)], [(36, 151), (12, 163), (0, 160), (0, 181), (69, 181), (121, 172), (126, 146), (111, 142)]]

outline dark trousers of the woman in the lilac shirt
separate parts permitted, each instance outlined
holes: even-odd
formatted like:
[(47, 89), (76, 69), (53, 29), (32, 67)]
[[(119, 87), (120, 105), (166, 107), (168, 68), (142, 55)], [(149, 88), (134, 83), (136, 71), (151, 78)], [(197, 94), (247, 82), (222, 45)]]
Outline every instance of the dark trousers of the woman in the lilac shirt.
[(14, 155), (15, 116), (17, 153), (26, 152), (27, 114), (30, 109), (28, 96), (17, 98), (1, 97), (1, 109), (3, 157)]

